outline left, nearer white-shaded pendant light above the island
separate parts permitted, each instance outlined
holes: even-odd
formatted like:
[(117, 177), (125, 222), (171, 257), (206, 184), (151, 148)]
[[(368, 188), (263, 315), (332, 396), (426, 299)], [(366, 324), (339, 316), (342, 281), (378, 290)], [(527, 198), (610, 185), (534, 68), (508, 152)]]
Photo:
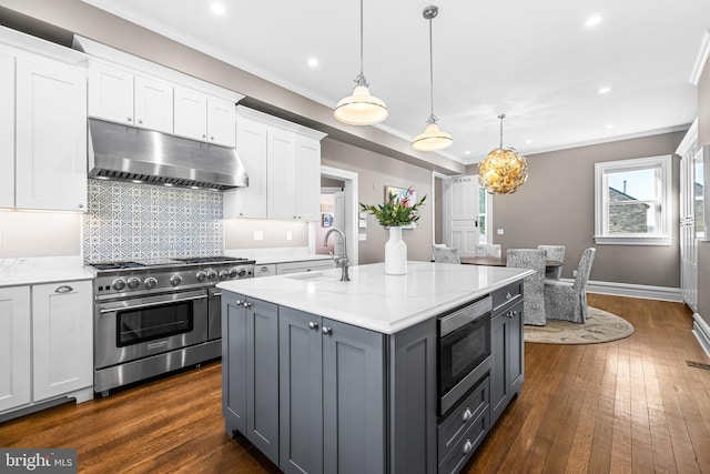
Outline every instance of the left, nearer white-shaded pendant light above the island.
[(387, 118), (387, 105), (382, 99), (369, 93), (369, 84), (363, 74), (363, 0), (359, 0), (359, 74), (355, 78), (355, 89), (335, 107), (335, 118), (351, 125), (374, 125)]

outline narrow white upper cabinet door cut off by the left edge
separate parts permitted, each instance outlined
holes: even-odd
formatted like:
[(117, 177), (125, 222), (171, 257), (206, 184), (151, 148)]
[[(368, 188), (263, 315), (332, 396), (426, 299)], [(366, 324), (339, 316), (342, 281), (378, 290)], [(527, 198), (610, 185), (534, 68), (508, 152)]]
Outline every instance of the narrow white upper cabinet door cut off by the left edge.
[(14, 58), (0, 54), (0, 208), (14, 208)]

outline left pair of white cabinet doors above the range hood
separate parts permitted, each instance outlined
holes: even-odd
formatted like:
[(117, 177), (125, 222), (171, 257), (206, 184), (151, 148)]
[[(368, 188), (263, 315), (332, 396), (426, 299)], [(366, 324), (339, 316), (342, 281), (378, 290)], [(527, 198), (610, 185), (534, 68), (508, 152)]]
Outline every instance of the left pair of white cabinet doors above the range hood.
[(91, 61), (88, 110), (98, 119), (173, 133), (173, 85)]

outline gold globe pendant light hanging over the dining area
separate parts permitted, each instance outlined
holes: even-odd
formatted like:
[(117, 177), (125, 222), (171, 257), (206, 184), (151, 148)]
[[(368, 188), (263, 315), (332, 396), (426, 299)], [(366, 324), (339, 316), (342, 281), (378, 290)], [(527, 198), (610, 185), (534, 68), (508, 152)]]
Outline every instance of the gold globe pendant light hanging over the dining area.
[(490, 194), (511, 194), (528, 179), (528, 161), (513, 148), (503, 148), (503, 119), (500, 119), (500, 147), (478, 163), (478, 182)]

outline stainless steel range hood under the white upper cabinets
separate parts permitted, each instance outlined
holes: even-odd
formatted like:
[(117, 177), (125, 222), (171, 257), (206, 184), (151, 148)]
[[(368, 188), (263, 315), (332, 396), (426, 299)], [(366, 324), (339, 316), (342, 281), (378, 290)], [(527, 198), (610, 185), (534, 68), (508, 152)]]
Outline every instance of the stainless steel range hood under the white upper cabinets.
[(89, 177), (224, 191), (248, 185), (236, 150), (89, 119)]

